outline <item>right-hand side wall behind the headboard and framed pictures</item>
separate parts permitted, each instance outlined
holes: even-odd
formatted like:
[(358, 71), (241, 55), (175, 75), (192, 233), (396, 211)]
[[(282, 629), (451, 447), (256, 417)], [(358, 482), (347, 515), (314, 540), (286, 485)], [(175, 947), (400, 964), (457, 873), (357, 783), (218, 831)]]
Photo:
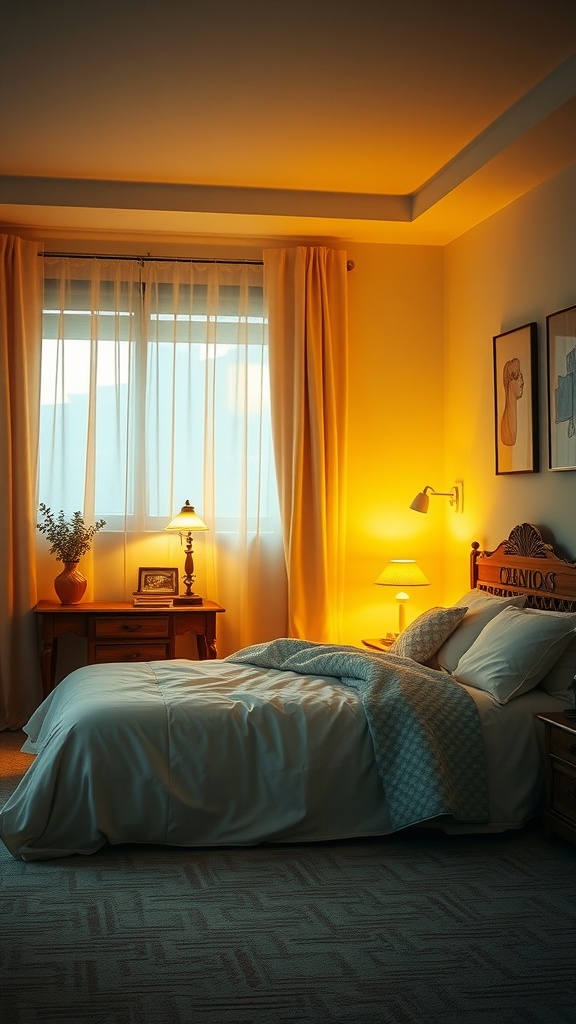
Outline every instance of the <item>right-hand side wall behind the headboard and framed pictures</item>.
[[(518, 522), (548, 527), (576, 559), (576, 473), (547, 469), (546, 314), (576, 304), (576, 165), (445, 248), (446, 470), (465, 481), (448, 522), (446, 600), (472, 540), (492, 550)], [(536, 321), (540, 471), (495, 474), (492, 339)]]

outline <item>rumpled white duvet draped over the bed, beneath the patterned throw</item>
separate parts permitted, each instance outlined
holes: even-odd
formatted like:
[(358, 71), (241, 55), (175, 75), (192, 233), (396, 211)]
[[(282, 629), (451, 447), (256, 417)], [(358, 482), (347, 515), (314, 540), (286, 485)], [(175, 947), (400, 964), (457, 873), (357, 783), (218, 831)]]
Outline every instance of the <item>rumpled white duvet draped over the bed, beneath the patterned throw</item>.
[[(533, 715), (561, 705), (534, 690), (500, 708), (465, 689), (489, 765), (490, 821), (474, 830), (520, 826), (541, 799)], [(0, 837), (25, 860), (107, 842), (234, 846), (390, 831), (362, 703), (332, 678), (225, 660), (87, 667), (53, 690), (26, 732), (24, 750), (37, 758), (0, 814)]]

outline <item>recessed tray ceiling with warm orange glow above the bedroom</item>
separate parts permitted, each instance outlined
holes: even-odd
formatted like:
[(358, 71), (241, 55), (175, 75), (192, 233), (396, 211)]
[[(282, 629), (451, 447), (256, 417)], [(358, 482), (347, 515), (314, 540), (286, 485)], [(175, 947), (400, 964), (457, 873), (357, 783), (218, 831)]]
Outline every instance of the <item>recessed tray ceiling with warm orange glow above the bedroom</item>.
[(27, 0), (0, 226), (444, 245), (576, 161), (576, 0)]

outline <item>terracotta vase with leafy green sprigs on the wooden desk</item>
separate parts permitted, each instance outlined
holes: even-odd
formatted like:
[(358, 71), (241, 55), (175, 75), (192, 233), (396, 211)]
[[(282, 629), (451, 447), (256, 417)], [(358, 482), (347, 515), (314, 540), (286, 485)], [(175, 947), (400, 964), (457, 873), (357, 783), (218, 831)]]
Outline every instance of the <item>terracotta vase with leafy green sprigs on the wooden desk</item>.
[(106, 519), (87, 526), (81, 512), (74, 512), (67, 518), (63, 509), (54, 515), (44, 503), (40, 504), (39, 511), (42, 521), (37, 523), (38, 529), (48, 541), (50, 554), (64, 562), (63, 571), (54, 580), (54, 590), (61, 604), (78, 604), (87, 586), (87, 580), (78, 570), (78, 562), (92, 547), (94, 535), (106, 526)]

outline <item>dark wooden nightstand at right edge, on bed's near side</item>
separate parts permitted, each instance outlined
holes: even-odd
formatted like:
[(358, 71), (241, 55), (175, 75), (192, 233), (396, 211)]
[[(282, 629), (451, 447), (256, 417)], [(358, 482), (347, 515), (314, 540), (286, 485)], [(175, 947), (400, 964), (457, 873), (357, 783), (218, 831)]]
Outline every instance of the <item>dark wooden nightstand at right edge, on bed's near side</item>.
[(536, 718), (546, 730), (544, 835), (551, 839), (556, 833), (576, 843), (576, 720), (565, 718), (562, 712)]

